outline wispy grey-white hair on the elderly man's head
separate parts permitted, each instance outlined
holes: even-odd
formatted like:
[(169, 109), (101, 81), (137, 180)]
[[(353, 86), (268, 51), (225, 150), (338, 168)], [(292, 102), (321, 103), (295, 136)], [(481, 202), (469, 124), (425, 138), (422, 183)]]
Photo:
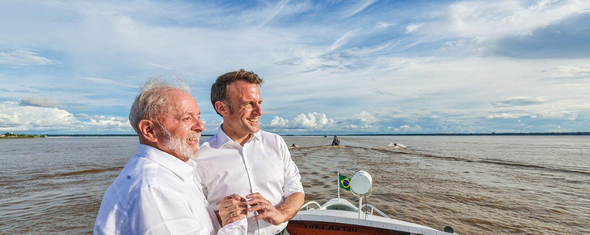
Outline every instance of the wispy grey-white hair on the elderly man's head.
[(135, 97), (129, 111), (129, 123), (139, 131), (139, 121), (150, 120), (159, 123), (160, 116), (171, 111), (173, 102), (168, 92), (179, 90), (191, 94), (191, 88), (185, 81), (173, 77), (173, 82), (166, 81), (163, 77), (151, 77), (143, 84), (141, 91)]

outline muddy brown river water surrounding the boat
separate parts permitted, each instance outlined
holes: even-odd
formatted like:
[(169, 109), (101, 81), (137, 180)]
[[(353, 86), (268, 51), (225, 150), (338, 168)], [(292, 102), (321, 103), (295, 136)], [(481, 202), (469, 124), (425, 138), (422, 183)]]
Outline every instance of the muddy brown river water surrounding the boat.
[[(202, 137), (206, 140), (209, 137)], [(336, 197), (336, 172), (373, 178), (389, 217), (460, 234), (590, 234), (590, 137), (283, 137), (306, 201)], [(0, 140), (0, 234), (90, 234), (136, 137)], [(405, 145), (394, 147), (393, 143)], [(342, 197), (358, 203), (348, 191)]]

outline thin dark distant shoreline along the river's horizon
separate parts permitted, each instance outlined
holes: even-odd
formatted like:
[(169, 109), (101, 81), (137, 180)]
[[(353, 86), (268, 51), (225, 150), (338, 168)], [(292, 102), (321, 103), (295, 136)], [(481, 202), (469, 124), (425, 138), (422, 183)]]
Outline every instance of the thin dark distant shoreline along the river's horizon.
[[(590, 132), (547, 132), (547, 133), (419, 133), (419, 134), (336, 134), (340, 136), (473, 136), (473, 135), (590, 135)], [(202, 135), (213, 136), (213, 135)], [(281, 136), (322, 136), (322, 135), (281, 135)], [(333, 134), (328, 135), (332, 137)], [(48, 134), (47, 137), (137, 137), (136, 134)]]

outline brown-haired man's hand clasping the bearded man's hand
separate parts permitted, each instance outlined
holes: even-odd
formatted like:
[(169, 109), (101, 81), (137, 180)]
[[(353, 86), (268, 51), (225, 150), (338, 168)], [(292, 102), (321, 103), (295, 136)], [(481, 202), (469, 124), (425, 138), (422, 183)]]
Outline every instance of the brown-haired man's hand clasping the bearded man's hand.
[(252, 217), (254, 221), (264, 220), (268, 223), (278, 225), (287, 220), (287, 216), (275, 208), (273, 203), (266, 200), (260, 193), (248, 194), (246, 198), (250, 198), (250, 200), (246, 201), (246, 204), (250, 205), (248, 211), (258, 212), (257, 216)]

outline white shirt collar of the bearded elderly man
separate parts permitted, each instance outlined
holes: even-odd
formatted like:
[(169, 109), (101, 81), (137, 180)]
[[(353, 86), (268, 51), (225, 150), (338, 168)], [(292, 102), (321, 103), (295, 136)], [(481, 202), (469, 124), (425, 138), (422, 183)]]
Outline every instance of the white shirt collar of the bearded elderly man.
[(167, 168), (185, 181), (192, 180), (196, 166), (195, 161), (192, 159), (185, 163), (171, 154), (145, 144), (139, 144), (137, 155), (160, 164), (160, 166)]

